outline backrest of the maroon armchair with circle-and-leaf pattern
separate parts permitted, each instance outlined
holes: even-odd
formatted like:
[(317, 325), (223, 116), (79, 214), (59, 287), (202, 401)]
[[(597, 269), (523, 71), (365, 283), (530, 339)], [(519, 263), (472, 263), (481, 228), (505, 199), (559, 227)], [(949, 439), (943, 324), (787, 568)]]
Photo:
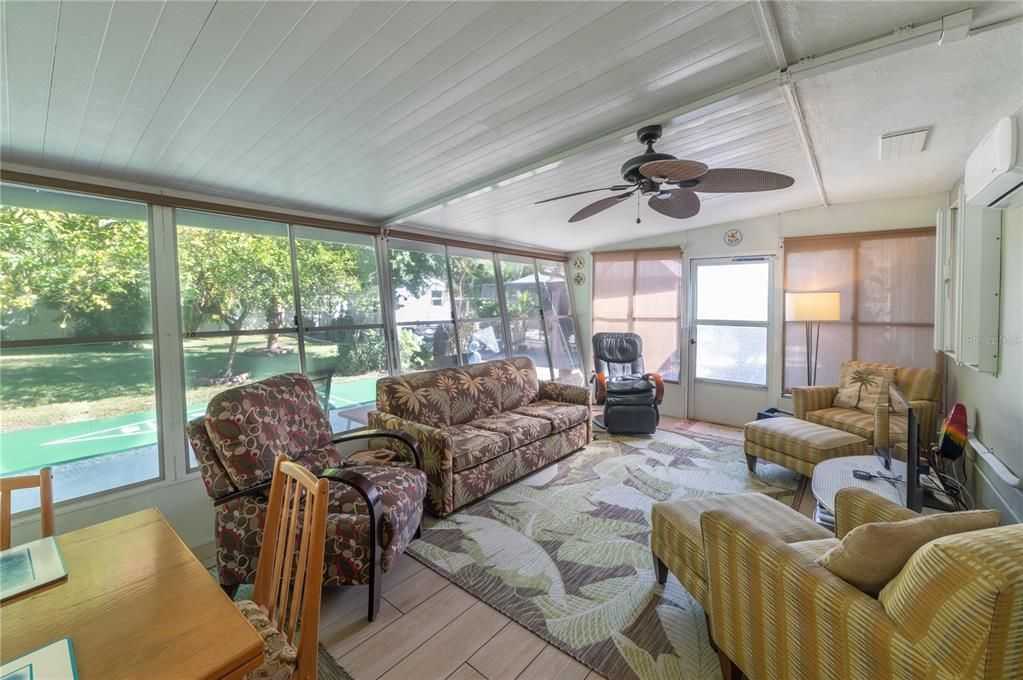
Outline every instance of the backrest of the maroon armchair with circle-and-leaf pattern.
[[(222, 392), (206, 409), (206, 428), (231, 482), (247, 489), (273, 474), (278, 455), (295, 460), (312, 454), (310, 466), (326, 460), (332, 433), (313, 383), (301, 373), (283, 373)], [(335, 453), (337, 456), (337, 453)], [(320, 468), (322, 469), (322, 468)]]

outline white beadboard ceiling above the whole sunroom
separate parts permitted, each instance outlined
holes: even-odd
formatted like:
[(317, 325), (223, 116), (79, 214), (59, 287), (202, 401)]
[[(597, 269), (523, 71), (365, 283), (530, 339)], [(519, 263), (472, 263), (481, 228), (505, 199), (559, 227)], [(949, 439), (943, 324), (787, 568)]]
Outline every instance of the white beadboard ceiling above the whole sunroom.
[[(968, 6), (975, 25), (1023, 14), (1018, 1), (3, 0), (0, 155), (383, 224), (770, 73), (779, 48), (793, 62)], [(780, 45), (758, 19), (764, 10)], [(947, 188), (1019, 100), (1020, 47), (1017, 26), (800, 82), (825, 192)], [(950, 90), (969, 95), (940, 103)], [(622, 134), (404, 225), (576, 250), (818, 203), (790, 104), (773, 86), (732, 97), (664, 121), (658, 145), (712, 167), (792, 175), (784, 191), (705, 194), (684, 221), (643, 206), (638, 225), (631, 200), (576, 225), (568, 216), (594, 196), (532, 205), (616, 183), (641, 151)], [(924, 126), (925, 151), (896, 162), (915, 165), (877, 167), (882, 133)]]

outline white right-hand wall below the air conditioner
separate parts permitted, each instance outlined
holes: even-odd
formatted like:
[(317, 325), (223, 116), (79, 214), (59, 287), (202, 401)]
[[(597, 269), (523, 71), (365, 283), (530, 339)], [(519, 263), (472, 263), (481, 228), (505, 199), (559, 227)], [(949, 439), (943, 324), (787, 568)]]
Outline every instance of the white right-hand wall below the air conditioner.
[[(1002, 214), (998, 373), (978, 373), (945, 361), (945, 403), (962, 402), (970, 429), (1017, 477), (1023, 477), (1023, 206)], [(973, 490), (1003, 522), (1023, 522), (1023, 491), (1012, 489), (977, 459)]]

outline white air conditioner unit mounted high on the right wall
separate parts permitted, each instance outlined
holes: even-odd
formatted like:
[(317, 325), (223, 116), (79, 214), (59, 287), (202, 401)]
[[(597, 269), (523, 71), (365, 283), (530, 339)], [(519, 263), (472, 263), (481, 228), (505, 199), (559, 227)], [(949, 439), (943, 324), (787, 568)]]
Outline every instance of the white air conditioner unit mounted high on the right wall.
[(998, 121), (966, 162), (966, 200), (981, 208), (1023, 202), (1023, 109)]

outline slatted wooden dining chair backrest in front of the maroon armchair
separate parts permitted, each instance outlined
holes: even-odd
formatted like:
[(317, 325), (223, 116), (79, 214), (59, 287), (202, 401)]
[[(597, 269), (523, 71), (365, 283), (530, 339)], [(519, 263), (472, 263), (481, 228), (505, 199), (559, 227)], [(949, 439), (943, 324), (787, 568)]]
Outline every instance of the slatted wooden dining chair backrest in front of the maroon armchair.
[(299, 638), (295, 678), (316, 677), (327, 494), (326, 480), (277, 457), (253, 601), (266, 608), (288, 642)]

